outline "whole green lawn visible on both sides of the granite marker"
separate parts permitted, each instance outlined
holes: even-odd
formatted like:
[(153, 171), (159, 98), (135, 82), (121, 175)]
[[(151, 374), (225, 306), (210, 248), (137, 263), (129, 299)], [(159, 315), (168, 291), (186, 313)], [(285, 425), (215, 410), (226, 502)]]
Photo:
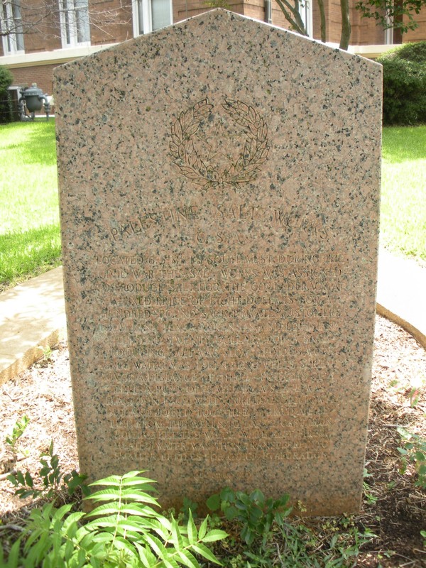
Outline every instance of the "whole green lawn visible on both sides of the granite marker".
[[(0, 291), (60, 263), (55, 121), (0, 126)], [(383, 129), (381, 244), (426, 260), (426, 126)]]

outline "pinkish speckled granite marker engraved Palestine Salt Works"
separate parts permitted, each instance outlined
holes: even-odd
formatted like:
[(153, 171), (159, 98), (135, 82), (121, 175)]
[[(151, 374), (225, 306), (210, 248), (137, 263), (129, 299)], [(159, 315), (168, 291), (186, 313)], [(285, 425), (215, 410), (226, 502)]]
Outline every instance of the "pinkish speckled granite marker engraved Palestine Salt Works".
[(55, 71), (82, 471), (361, 503), (381, 71), (212, 11)]

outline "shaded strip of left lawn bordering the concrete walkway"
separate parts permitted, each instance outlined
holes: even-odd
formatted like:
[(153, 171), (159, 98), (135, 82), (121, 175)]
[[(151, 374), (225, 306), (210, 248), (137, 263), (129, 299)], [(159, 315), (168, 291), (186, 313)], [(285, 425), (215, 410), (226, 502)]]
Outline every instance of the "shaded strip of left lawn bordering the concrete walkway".
[(0, 235), (0, 289), (60, 263), (59, 224)]

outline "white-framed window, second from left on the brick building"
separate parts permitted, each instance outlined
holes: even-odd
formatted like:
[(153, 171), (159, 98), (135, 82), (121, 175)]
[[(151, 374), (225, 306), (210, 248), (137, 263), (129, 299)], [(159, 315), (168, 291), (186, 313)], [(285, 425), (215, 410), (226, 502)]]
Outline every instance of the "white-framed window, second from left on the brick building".
[(90, 43), (88, 0), (59, 0), (62, 47)]

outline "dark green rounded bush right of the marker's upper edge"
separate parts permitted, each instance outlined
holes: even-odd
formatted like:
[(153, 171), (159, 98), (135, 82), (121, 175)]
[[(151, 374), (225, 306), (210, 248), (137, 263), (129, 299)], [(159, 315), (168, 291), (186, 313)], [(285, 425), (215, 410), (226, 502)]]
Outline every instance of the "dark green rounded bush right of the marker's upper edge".
[(378, 58), (383, 65), (383, 124), (426, 123), (426, 41)]

